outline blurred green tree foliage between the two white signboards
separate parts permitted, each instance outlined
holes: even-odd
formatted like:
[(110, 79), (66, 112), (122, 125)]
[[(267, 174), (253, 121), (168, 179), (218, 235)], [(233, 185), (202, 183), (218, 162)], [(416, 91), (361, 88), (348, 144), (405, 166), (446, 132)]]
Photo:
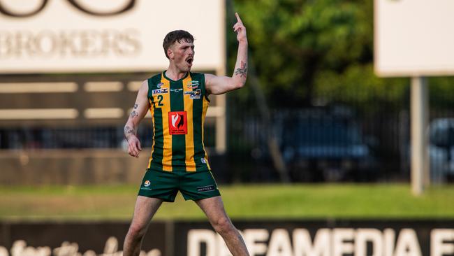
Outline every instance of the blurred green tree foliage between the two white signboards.
[[(374, 75), (373, 0), (234, 2), (270, 104), (395, 101), (407, 93), (408, 79)], [(235, 49), (232, 38), (230, 49)]]

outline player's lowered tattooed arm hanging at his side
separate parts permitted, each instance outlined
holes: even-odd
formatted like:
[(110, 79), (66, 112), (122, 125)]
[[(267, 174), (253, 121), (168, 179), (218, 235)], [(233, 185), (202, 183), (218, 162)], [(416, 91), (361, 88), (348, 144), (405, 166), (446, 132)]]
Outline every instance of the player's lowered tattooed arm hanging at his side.
[(148, 108), (148, 81), (145, 80), (140, 86), (136, 103), (124, 126), (124, 136), (126, 137), (126, 140), (128, 140), (128, 153), (133, 157), (139, 157), (139, 153), (142, 151), (140, 141), (137, 138), (137, 127), (142, 118), (147, 114)]

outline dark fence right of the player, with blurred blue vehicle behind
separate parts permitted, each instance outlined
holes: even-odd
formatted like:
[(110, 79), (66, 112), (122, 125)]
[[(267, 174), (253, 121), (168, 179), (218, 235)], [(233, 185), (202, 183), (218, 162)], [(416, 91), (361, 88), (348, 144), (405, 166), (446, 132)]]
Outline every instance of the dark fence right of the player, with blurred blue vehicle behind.
[[(253, 94), (235, 92), (228, 104), (231, 181), (279, 180), (270, 136), (295, 182), (408, 181), (409, 85), (401, 91), (398, 97), (365, 100), (362, 91), (352, 90), (314, 99), (317, 106), (279, 104), (269, 97), (270, 122), (263, 121)], [(446, 183), (454, 180), (454, 101), (439, 100), (439, 94), (430, 92), (430, 178)]]

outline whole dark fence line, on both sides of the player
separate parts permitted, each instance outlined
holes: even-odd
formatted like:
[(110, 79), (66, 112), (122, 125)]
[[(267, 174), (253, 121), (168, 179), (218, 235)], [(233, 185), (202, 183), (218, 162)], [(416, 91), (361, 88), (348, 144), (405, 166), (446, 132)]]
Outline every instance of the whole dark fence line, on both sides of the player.
[[(315, 106), (279, 104), (269, 97), (270, 122), (258, 111), (247, 87), (228, 94), (226, 155), (211, 157), (221, 183), (276, 182), (276, 153), (294, 182), (409, 180), (409, 90), (400, 97), (366, 100), (349, 97), (314, 99)], [(352, 96), (353, 95), (353, 96)], [(435, 94), (437, 96), (437, 94)], [(431, 94), (430, 167), (436, 183), (454, 180), (454, 101)], [(293, 107), (288, 107), (289, 105)], [(153, 129), (138, 129), (143, 148), (152, 146)], [(205, 146), (213, 148), (214, 126), (205, 127)], [(124, 148), (123, 125), (27, 125), (0, 127), (1, 150)], [(209, 150), (213, 152), (214, 150)], [(213, 153), (211, 155), (214, 155)]]

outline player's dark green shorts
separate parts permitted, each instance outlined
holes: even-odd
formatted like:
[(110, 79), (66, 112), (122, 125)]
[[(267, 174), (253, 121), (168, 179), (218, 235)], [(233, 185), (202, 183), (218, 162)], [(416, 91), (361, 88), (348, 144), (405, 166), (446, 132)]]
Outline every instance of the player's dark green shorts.
[(221, 195), (211, 171), (154, 171), (143, 176), (139, 195), (163, 201), (175, 201), (178, 191), (185, 200), (198, 200)]

